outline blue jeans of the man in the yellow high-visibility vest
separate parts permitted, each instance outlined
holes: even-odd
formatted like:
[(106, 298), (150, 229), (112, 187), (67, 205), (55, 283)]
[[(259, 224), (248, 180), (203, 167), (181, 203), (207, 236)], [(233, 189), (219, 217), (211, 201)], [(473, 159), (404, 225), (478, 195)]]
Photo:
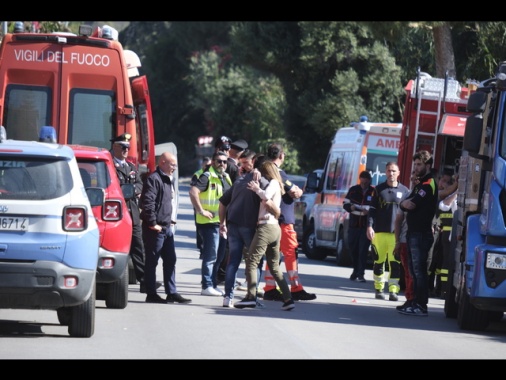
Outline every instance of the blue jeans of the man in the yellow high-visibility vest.
[(218, 224), (199, 224), (200, 236), (202, 237), (202, 289), (218, 286), (217, 274), (221, 261), (225, 256), (227, 240), (220, 237)]

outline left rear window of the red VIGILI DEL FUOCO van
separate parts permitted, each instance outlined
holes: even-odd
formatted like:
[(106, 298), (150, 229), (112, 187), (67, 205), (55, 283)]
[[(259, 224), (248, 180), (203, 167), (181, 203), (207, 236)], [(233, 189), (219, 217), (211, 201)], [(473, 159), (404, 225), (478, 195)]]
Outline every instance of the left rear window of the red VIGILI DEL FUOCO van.
[(40, 127), (51, 124), (50, 101), (49, 87), (8, 85), (4, 116), (8, 138), (37, 141)]

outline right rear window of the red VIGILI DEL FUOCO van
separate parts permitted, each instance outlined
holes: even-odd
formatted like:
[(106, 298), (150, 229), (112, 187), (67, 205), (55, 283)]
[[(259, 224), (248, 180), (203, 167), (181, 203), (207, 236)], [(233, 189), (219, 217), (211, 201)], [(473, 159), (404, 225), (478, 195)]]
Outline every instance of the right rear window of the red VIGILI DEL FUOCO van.
[(115, 124), (113, 91), (73, 89), (70, 92), (68, 144), (109, 149)]

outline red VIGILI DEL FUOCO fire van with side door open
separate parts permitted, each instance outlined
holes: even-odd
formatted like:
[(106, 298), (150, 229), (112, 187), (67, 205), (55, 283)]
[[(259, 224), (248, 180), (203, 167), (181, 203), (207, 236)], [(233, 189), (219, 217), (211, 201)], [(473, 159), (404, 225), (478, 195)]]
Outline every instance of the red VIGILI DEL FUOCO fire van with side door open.
[(155, 169), (154, 127), (145, 76), (136, 53), (109, 26), (79, 34), (8, 33), (0, 45), (0, 125), (9, 138), (38, 140), (43, 126), (58, 143), (110, 149), (131, 137), (129, 160)]

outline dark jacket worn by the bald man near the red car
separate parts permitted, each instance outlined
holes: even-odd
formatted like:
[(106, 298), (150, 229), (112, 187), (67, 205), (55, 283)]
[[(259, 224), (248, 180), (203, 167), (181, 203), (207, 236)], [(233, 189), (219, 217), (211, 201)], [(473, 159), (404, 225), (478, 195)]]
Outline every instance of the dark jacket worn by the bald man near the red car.
[(160, 168), (146, 179), (141, 195), (141, 218), (147, 226), (170, 226), (173, 192), (170, 177)]

